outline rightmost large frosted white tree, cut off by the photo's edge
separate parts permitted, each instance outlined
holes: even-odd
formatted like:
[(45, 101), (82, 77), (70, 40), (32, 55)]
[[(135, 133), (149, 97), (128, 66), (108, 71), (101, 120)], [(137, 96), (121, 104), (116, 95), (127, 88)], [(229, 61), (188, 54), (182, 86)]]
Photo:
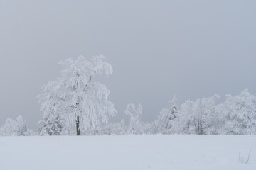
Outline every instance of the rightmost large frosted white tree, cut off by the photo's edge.
[(222, 107), (225, 125), (221, 133), (256, 134), (256, 97), (250, 94), (248, 89), (243, 90), (238, 96), (226, 97)]

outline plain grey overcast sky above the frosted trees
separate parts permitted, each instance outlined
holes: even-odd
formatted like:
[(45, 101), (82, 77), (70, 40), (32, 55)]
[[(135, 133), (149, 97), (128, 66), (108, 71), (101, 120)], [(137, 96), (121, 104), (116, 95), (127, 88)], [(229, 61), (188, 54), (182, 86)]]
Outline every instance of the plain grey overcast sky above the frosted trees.
[(103, 54), (102, 82), (125, 118), (214, 94), (256, 94), (256, 1), (0, 1), (0, 125), (42, 118), (35, 97), (68, 57)]

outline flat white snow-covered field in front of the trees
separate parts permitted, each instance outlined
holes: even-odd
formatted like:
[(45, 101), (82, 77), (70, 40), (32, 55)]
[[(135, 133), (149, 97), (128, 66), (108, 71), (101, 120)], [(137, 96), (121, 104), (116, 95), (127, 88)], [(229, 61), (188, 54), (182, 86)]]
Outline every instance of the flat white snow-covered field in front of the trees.
[(0, 169), (256, 169), (256, 136), (0, 137)]

